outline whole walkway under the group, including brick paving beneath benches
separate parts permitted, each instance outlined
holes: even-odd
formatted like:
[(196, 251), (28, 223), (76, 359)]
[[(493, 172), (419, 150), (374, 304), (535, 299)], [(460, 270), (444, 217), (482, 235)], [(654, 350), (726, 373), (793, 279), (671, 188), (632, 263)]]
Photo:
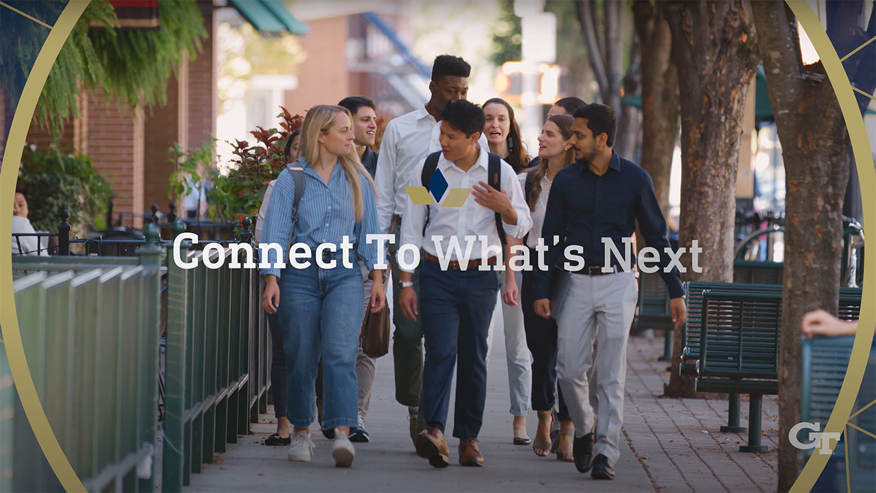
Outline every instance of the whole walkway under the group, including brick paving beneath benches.
[[(595, 481), (575, 466), (538, 458), (531, 447), (511, 444), (504, 335), (494, 336), (488, 394), (481, 432), (484, 468), (457, 465), (456, 439), (449, 439), (451, 467), (431, 468), (413, 453), (406, 409), (393, 397), (392, 354), (378, 360), (377, 381), (366, 426), (371, 443), (357, 444), (353, 467), (334, 467), (329, 440), (314, 432), (314, 461), (286, 460), (285, 447), (262, 444), (275, 431), (272, 415), (252, 425), (253, 435), (230, 445), (216, 462), (192, 475), (186, 491), (774, 491), (776, 488), (777, 404), (764, 397), (764, 443), (770, 454), (742, 454), (745, 437), (721, 433), (727, 402), (664, 399), (667, 363), (656, 361), (661, 339), (631, 338), (627, 353), (624, 447), (614, 481)], [(453, 401), (450, 423), (453, 429)], [(747, 402), (743, 401), (747, 422)], [(530, 437), (536, 419), (528, 418)], [(314, 430), (318, 427), (314, 426)], [(637, 460), (638, 459), (638, 460)]]

